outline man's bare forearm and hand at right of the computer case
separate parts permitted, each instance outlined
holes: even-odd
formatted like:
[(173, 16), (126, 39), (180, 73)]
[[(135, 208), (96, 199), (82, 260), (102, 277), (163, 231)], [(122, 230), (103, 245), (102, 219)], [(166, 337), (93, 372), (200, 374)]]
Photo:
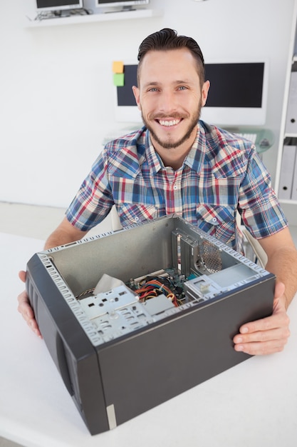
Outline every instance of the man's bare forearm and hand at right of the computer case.
[(235, 350), (251, 355), (282, 351), (290, 336), (286, 309), (297, 290), (297, 251), (288, 228), (259, 239), (266, 251), (266, 270), (276, 275), (273, 313), (246, 323), (234, 337)]

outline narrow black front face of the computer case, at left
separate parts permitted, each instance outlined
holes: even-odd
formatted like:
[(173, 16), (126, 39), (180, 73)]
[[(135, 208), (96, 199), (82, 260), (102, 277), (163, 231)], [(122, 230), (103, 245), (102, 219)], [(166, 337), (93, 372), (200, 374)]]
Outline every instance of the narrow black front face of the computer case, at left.
[(88, 430), (107, 431), (97, 353), (38, 255), (27, 263), (26, 290), (48, 351)]

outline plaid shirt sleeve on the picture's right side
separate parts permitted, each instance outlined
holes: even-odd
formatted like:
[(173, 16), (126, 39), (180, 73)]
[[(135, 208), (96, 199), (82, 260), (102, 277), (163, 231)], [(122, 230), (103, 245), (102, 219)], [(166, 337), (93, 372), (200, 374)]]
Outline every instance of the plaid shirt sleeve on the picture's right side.
[(271, 176), (255, 150), (251, 151), (246, 176), (241, 183), (239, 212), (244, 225), (257, 239), (271, 236), (288, 226), (272, 189)]

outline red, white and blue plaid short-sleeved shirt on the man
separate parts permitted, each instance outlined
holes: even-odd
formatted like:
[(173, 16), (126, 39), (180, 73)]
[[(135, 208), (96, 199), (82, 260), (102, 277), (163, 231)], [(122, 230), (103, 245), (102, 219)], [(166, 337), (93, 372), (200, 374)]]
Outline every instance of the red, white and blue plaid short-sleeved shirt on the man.
[(203, 121), (177, 171), (164, 166), (145, 128), (106, 144), (66, 216), (88, 231), (113, 204), (123, 226), (175, 213), (237, 250), (236, 210), (255, 238), (287, 225), (255, 146)]

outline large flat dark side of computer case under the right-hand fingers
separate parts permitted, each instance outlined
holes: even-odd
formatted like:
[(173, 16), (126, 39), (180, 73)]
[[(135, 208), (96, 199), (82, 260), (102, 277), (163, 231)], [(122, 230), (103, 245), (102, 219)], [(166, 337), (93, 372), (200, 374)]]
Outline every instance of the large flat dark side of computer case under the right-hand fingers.
[(271, 315), (274, 283), (267, 276), (256, 287), (98, 348), (106, 405), (117, 425), (249, 358), (234, 351), (232, 338), (241, 324)]

